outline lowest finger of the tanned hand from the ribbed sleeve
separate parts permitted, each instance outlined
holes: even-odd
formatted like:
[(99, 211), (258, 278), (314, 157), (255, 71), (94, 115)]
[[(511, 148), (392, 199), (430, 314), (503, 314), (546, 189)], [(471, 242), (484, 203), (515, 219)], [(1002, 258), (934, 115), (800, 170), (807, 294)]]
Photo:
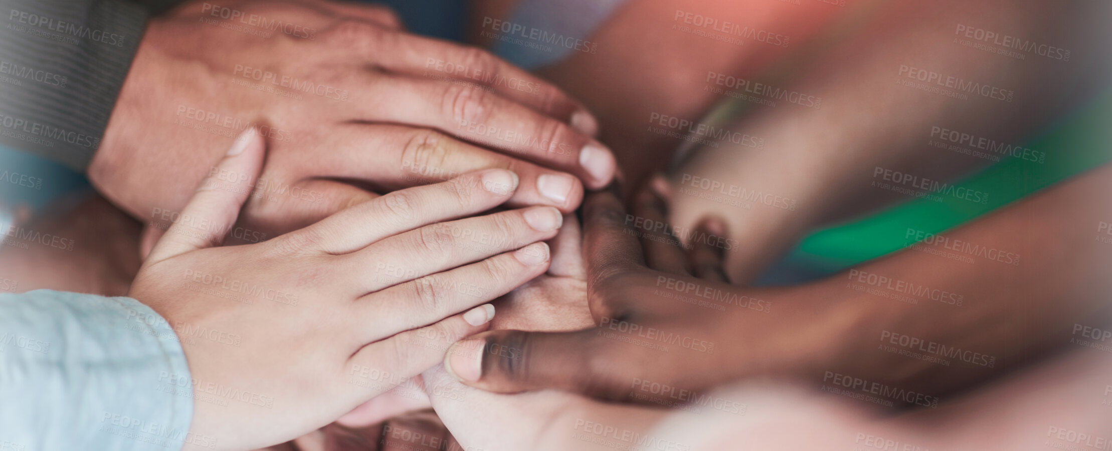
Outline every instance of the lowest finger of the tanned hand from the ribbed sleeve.
[(436, 130), (391, 124), (353, 124), (341, 130), (329, 134), (329, 142), (322, 143), (327, 152), (306, 153), (306, 167), (316, 171), (309, 176), (365, 180), (388, 192), (502, 168), (520, 178), (508, 207), (553, 206), (567, 213), (583, 201), (583, 183), (575, 176), (463, 142)]

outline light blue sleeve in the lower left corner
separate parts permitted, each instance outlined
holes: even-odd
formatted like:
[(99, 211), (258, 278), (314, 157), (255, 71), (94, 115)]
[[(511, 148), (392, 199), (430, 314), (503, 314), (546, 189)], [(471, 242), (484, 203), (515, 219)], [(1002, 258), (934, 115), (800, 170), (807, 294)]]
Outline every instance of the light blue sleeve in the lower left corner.
[(2, 450), (215, 447), (188, 433), (190, 381), (173, 329), (135, 299), (0, 294)]

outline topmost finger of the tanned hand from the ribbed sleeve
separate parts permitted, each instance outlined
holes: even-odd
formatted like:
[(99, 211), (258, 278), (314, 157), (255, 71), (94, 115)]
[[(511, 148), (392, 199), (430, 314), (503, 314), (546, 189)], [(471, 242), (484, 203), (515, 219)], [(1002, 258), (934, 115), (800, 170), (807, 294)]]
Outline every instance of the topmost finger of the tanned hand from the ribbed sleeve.
[(373, 56), (393, 72), (465, 81), (568, 123), (587, 137), (598, 133), (598, 121), (583, 104), (554, 84), (484, 49), (411, 33), (359, 31), (353, 34), (365, 36), (365, 39), (348, 39), (341, 44)]

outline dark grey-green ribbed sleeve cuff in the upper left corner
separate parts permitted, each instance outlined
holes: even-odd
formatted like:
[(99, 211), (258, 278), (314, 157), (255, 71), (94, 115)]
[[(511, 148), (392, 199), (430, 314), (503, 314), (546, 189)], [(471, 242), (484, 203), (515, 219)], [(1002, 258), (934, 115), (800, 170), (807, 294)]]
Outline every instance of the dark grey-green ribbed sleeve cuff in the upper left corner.
[(9, 0), (0, 7), (0, 143), (83, 172), (142, 38), (123, 0)]

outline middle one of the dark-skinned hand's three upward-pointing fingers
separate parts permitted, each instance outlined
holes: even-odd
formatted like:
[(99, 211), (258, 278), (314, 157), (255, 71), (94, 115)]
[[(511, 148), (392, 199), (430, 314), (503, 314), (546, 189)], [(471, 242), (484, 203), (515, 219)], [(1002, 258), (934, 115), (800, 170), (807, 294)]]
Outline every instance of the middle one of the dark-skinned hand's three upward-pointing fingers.
[(689, 275), (684, 244), (675, 237), (667, 218), (664, 200), (645, 187), (634, 197), (634, 217), (626, 217), (626, 227), (629, 233), (641, 237), (645, 262), (649, 268)]

